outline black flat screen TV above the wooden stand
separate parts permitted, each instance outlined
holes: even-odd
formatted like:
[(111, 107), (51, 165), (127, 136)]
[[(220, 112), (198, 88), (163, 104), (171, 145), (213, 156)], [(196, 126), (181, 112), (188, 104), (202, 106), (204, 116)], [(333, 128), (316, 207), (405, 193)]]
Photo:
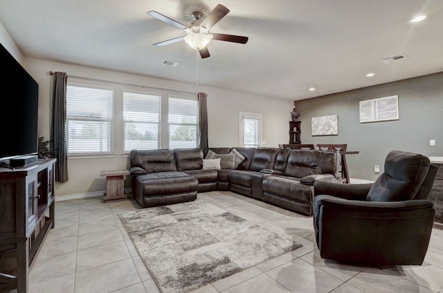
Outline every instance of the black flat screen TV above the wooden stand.
[(39, 85), (0, 44), (0, 160), (37, 154)]

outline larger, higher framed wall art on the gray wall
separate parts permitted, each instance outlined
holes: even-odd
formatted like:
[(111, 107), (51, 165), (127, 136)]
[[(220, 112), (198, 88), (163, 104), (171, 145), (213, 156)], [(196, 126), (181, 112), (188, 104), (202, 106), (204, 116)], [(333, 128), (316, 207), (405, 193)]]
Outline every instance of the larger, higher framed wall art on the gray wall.
[(399, 96), (360, 101), (360, 123), (399, 119)]

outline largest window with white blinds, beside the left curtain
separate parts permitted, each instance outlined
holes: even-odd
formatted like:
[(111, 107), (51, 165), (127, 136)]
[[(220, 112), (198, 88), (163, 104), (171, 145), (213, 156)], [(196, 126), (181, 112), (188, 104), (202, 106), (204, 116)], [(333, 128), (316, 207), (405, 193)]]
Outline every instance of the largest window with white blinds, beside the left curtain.
[(114, 89), (70, 83), (66, 87), (69, 155), (114, 152)]

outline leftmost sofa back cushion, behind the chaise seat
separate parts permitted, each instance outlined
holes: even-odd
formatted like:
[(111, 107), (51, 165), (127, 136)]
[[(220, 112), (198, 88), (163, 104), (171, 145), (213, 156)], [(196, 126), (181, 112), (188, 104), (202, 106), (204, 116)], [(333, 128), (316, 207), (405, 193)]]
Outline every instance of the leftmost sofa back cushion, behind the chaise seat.
[(132, 150), (131, 167), (140, 167), (148, 173), (174, 172), (174, 152), (168, 149), (161, 150)]

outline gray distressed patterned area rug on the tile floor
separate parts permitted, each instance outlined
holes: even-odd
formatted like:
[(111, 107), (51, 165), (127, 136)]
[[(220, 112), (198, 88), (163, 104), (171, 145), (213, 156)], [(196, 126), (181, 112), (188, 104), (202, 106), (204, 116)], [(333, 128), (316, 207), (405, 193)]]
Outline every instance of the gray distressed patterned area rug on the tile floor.
[(163, 293), (184, 293), (302, 247), (201, 199), (118, 214)]

